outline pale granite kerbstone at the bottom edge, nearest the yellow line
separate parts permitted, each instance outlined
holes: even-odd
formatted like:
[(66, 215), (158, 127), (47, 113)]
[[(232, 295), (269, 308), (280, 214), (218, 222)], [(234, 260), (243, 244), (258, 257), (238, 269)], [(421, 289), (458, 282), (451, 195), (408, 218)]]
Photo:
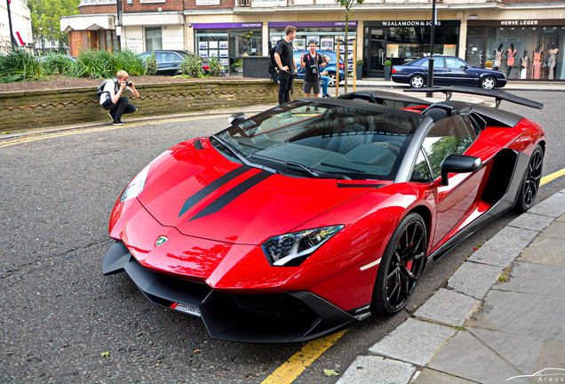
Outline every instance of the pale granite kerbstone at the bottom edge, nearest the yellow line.
[(416, 367), (379, 356), (358, 356), (336, 384), (408, 383)]

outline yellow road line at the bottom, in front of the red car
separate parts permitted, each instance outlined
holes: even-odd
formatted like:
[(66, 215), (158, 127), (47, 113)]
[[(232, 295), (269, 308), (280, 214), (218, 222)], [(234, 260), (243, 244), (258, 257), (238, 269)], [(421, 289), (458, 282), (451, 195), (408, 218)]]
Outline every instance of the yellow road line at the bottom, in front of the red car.
[(336, 343), (347, 330), (334, 333), (321, 339), (308, 342), (299, 352), (294, 354), (273, 372), (261, 384), (290, 384), (296, 380), (306, 367)]

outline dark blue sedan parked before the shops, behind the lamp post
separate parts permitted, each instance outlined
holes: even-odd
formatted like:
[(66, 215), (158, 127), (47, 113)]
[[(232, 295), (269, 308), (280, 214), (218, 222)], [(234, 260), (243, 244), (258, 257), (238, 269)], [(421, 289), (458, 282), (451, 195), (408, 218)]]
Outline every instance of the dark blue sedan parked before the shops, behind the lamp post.
[[(429, 59), (425, 57), (404, 65), (395, 65), (393, 81), (410, 84), (413, 88), (426, 86)], [(458, 57), (434, 56), (434, 85), (466, 85), (493, 89), (504, 87), (505, 84), (506, 76), (502, 72), (473, 68)]]

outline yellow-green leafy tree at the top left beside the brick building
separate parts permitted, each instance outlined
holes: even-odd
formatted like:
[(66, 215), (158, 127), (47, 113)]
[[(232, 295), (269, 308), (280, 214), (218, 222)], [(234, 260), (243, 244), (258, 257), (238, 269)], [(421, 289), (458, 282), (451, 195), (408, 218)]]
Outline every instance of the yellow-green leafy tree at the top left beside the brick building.
[(79, 4), (80, 0), (28, 0), (34, 40), (38, 41), (43, 34), (45, 40), (57, 42), (60, 51), (66, 52), (68, 35), (60, 30), (60, 18), (78, 14)]

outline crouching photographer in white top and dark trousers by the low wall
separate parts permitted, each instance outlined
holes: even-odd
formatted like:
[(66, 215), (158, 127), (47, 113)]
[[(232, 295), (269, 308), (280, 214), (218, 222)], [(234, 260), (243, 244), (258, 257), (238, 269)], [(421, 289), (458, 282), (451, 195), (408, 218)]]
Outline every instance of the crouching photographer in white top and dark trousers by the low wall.
[(123, 125), (122, 115), (131, 114), (138, 110), (130, 104), (127, 97), (122, 96), (123, 90), (130, 91), (134, 98), (139, 97), (135, 85), (129, 80), (130, 76), (124, 70), (118, 71), (116, 78), (105, 80), (99, 86), (100, 105), (106, 109), (114, 125)]

